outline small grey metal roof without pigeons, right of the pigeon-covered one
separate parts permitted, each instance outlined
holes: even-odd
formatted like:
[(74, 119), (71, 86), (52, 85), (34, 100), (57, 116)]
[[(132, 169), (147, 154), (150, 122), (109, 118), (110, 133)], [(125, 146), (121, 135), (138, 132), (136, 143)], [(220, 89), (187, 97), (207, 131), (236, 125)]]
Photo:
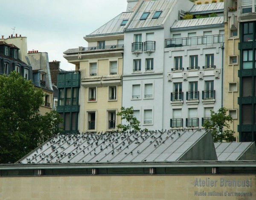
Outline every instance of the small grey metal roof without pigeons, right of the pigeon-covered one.
[(256, 159), (254, 142), (214, 143), (218, 160)]

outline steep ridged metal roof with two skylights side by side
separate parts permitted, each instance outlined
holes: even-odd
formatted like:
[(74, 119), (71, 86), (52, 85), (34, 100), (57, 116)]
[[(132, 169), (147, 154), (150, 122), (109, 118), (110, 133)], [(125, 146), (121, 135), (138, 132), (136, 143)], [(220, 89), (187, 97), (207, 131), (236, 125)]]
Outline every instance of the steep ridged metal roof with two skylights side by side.
[[(176, 0), (154, 0), (154, 1), (143, 1), (136, 13), (128, 22), (128, 29), (139, 29), (145, 27), (162, 26), (165, 22), (166, 17), (169, 15), (170, 9), (172, 9), (177, 1)], [(152, 19), (156, 11), (163, 11), (159, 18)], [(140, 17), (144, 12), (150, 12), (147, 19), (140, 20)]]

